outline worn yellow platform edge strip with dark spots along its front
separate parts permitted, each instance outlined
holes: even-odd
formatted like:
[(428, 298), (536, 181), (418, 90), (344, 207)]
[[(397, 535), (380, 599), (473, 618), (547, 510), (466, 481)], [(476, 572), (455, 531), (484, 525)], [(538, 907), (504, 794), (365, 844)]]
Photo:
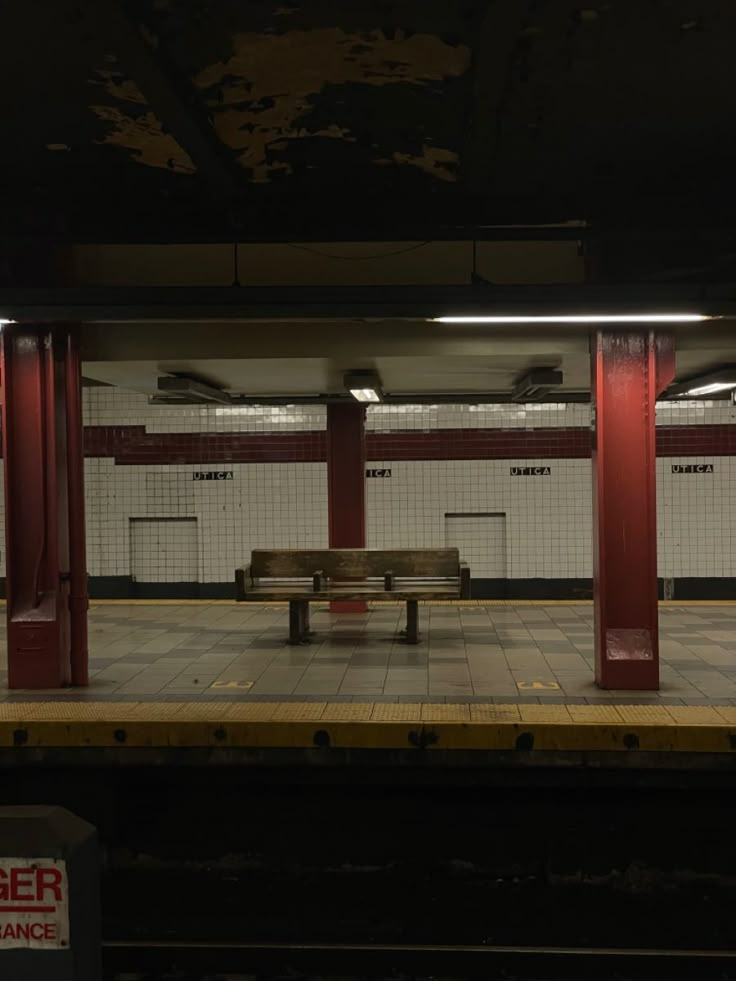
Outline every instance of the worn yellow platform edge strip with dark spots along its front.
[(0, 749), (62, 747), (734, 754), (736, 707), (0, 703)]

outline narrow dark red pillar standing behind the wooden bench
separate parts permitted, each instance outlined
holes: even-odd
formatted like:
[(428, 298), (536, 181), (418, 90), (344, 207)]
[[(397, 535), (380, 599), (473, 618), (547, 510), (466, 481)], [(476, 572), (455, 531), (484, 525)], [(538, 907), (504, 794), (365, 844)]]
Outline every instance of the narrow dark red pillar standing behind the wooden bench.
[[(365, 548), (365, 406), (327, 406), (327, 512), (330, 548)], [(330, 609), (364, 613), (363, 601), (338, 601)]]

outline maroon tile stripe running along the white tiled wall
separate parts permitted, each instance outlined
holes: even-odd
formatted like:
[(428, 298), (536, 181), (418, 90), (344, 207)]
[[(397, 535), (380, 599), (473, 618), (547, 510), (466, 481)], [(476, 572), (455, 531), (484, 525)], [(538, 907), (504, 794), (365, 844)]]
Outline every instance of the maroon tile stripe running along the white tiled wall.
[[(591, 434), (568, 429), (437, 429), (368, 433), (369, 460), (584, 459)], [(736, 425), (661, 426), (659, 456), (734, 456)], [(147, 433), (144, 426), (85, 427), (85, 456), (119, 465), (324, 462), (324, 431)]]

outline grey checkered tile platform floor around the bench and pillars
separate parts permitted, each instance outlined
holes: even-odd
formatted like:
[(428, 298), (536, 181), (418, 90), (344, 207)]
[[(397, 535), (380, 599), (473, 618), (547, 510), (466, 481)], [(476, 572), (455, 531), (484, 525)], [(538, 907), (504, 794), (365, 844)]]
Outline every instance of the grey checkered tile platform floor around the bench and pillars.
[(425, 606), (416, 647), (396, 636), (400, 606), (350, 615), (315, 606), (316, 636), (298, 648), (286, 643), (287, 615), (283, 606), (96, 604), (90, 687), (9, 693), (3, 637), (0, 700), (736, 705), (736, 605), (661, 607), (659, 693), (596, 687), (591, 604)]

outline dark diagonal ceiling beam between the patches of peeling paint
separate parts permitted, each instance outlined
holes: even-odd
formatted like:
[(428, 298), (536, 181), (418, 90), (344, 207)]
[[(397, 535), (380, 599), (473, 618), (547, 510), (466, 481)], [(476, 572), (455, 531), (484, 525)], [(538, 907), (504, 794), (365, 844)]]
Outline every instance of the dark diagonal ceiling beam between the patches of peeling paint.
[(180, 76), (160, 48), (154, 51), (119, 0), (87, 0), (86, 14), (161, 124), (192, 158), (209, 196), (223, 202), (237, 198), (247, 177), (217, 137), (190, 80)]

